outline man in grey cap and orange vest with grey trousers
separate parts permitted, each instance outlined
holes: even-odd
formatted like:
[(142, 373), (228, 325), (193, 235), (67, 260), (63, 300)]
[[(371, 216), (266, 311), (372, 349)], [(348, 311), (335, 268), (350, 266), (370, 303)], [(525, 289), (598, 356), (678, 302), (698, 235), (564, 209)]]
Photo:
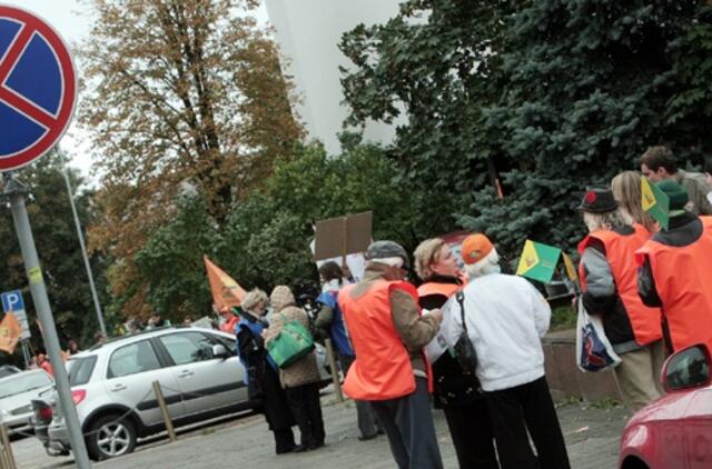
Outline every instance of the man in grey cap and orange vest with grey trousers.
[(431, 368), (423, 353), (442, 313), (421, 315), (417, 290), (404, 280), (409, 261), (402, 246), (376, 241), (366, 258), (363, 280), (338, 295), (356, 353), (344, 391), (372, 402), (399, 468), (442, 468), (428, 397)]

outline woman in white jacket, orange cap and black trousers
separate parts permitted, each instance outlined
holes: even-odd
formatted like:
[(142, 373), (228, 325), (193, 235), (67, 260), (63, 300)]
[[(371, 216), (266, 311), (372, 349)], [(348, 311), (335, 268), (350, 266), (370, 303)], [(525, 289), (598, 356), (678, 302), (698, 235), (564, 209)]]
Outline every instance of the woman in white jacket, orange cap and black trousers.
[[(544, 376), (541, 338), (551, 309), (525, 279), (500, 272), (500, 257), (484, 234), (463, 241), (469, 276), (464, 289), (467, 336), (503, 469), (567, 469), (566, 445)], [(459, 306), (444, 308), (441, 333), (454, 347), (463, 332)], [(534, 456), (527, 436), (536, 447)]]

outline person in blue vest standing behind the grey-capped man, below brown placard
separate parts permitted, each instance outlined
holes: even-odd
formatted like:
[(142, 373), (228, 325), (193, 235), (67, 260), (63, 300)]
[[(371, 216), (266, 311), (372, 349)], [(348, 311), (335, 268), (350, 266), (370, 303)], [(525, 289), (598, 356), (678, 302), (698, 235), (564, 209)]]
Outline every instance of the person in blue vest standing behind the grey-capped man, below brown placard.
[[(338, 291), (343, 287), (343, 270), (338, 263), (328, 261), (319, 267), (322, 279), (322, 295), (316, 299), (319, 303), (319, 312), (314, 321), (314, 326), (327, 332), (332, 342), (336, 347), (338, 360), (342, 365), (344, 376), (354, 363), (356, 355), (348, 339), (348, 332), (344, 325), (342, 309), (338, 307)], [(356, 419), (358, 421), (358, 439), (360, 441), (376, 438), (383, 431), (378, 428), (376, 415), (370, 403), (364, 400), (356, 400)]]

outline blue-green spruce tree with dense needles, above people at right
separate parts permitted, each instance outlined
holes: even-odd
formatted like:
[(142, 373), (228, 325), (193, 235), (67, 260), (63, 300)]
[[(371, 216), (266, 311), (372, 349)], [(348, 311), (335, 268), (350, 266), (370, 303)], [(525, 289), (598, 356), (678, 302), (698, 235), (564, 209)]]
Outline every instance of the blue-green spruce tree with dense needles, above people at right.
[[(650, 144), (678, 148), (689, 134), (665, 119), (676, 90), (671, 48), (691, 26), (695, 1), (544, 0), (511, 23), (501, 101), (483, 111), (488, 151), (511, 168), (504, 201), (469, 198), (474, 217), (517, 255), (525, 237), (567, 249), (583, 233), (574, 206), (589, 184), (639, 167)], [(695, 131), (696, 132), (696, 131)]]

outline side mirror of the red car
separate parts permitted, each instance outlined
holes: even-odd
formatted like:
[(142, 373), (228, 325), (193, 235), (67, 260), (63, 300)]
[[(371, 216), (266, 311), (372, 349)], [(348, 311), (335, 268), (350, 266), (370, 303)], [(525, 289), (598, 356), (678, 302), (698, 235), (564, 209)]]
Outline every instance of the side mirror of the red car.
[(698, 343), (671, 355), (661, 375), (665, 392), (680, 391), (708, 386), (710, 383), (710, 350)]

